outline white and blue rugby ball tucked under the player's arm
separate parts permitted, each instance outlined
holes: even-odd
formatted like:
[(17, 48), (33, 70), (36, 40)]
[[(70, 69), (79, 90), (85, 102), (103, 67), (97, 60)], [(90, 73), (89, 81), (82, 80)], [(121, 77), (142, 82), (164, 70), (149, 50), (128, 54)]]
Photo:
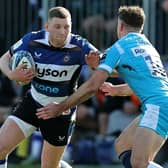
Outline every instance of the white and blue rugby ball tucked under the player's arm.
[[(35, 69), (35, 63), (34, 63), (33, 57), (30, 52), (25, 51), (25, 50), (20, 50), (12, 55), (12, 58), (10, 60), (11, 70), (16, 69), (21, 64), (25, 65), (23, 70), (27, 70), (29, 68)], [(23, 82), (17, 82), (17, 83), (20, 85), (27, 84)]]

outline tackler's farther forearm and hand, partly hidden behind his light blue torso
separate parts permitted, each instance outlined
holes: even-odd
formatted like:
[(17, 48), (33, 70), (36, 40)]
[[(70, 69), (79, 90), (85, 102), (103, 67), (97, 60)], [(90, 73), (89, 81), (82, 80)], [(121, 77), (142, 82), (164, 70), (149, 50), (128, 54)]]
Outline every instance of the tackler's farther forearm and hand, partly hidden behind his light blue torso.
[(128, 84), (113, 85), (105, 82), (100, 87), (100, 90), (104, 92), (105, 96), (130, 96), (133, 94)]

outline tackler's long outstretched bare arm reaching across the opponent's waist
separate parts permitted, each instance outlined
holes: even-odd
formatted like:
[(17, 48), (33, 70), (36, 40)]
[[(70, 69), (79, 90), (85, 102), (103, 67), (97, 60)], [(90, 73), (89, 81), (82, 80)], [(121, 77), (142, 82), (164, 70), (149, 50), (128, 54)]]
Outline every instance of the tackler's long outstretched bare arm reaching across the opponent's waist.
[(38, 109), (36, 113), (37, 117), (42, 119), (54, 118), (61, 115), (62, 112), (67, 111), (71, 107), (86, 101), (98, 91), (99, 87), (107, 77), (107, 72), (103, 70), (96, 70), (92, 77), (81, 85), (81, 87), (79, 87), (79, 89), (65, 101), (59, 104), (50, 103), (47, 106)]

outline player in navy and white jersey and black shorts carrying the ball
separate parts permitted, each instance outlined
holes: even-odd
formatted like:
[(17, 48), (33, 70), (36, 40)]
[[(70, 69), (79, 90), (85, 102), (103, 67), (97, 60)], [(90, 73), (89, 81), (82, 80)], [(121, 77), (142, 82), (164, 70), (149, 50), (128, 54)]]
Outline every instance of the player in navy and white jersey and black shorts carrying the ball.
[[(10, 58), (26, 50), (34, 58), (33, 69), (22, 71), (24, 65), (11, 71)], [(98, 50), (86, 39), (71, 33), (71, 14), (63, 7), (49, 10), (44, 30), (30, 32), (14, 44), (0, 59), (0, 69), (11, 80), (31, 81), (31, 88), (0, 129), (0, 168), (7, 167), (8, 154), (36, 129), (44, 138), (41, 168), (56, 168), (70, 140), (76, 107), (60, 117), (38, 119), (36, 110), (52, 102), (60, 102), (71, 95), (86, 63), (95, 68)], [(61, 167), (68, 165), (61, 161)], [(69, 166), (70, 167), (70, 166)]]

